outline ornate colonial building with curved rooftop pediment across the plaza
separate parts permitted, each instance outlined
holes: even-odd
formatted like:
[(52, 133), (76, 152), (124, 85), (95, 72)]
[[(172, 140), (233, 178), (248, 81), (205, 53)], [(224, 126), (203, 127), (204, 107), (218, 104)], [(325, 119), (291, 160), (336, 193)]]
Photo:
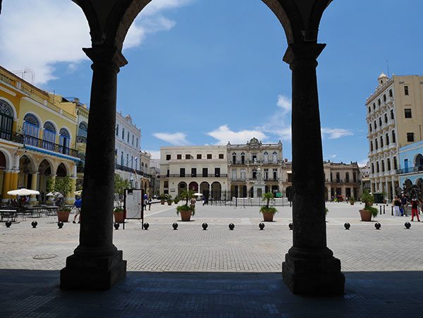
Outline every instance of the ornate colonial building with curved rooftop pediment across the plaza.
[(252, 138), (245, 145), (231, 145), (228, 142), (228, 188), (231, 197), (254, 197), (254, 185), (257, 183), (257, 169), (261, 170), (264, 191), (281, 196), (282, 176), (282, 142), (263, 144)]

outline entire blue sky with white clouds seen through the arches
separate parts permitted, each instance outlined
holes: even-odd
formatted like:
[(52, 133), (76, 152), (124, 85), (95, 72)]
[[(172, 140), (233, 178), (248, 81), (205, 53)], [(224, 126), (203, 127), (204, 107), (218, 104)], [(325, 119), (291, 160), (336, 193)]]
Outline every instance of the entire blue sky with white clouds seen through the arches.
[[(153, 0), (146, 9), (125, 40), (117, 106), (141, 128), (142, 149), (157, 156), (161, 146), (255, 136), (282, 140), (290, 159), (287, 44), (269, 8), (259, 0)], [(422, 12), (419, 0), (336, 0), (327, 8), (317, 68), (324, 159), (365, 163), (364, 103), (376, 78), (387, 64), (390, 75), (423, 74)], [(75, 4), (6, 1), (0, 30), (2, 65), (28, 66), (43, 89), (89, 104), (92, 71), (80, 48), (90, 38)]]

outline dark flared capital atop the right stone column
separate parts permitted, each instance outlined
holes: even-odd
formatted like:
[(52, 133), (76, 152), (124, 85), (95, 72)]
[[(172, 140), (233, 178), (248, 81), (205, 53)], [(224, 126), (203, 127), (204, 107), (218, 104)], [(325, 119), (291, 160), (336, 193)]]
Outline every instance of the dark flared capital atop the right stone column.
[[(317, 60), (321, 51), (326, 47), (326, 44), (317, 43), (293, 43), (289, 44), (286, 49), (283, 61), (288, 63), (291, 67), (300, 61), (311, 61)], [(316, 64), (317, 66), (317, 64)]]

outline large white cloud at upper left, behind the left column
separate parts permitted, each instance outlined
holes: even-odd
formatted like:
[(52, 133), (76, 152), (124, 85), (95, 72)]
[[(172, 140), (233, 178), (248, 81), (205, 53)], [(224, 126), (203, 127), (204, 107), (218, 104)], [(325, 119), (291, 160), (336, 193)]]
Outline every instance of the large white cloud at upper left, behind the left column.
[[(154, 0), (134, 21), (124, 49), (138, 47), (148, 34), (171, 30), (175, 21), (161, 15), (168, 8), (190, 4), (192, 0)], [(10, 71), (30, 67), (35, 84), (54, 80), (54, 64), (69, 63), (76, 71), (87, 60), (82, 47), (91, 47), (90, 30), (82, 10), (72, 1), (5, 1), (0, 18), (0, 61)]]

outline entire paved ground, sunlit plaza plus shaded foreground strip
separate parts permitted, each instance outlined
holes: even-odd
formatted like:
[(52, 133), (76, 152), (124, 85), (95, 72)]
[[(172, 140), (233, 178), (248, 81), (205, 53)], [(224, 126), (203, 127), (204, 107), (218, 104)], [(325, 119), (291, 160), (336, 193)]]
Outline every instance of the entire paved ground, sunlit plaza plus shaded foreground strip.
[(292, 295), (282, 282), (281, 264), (292, 246), (290, 207), (278, 207), (276, 221), (259, 231), (259, 207), (197, 204), (192, 221), (180, 222), (174, 205), (152, 204), (148, 231), (138, 220), (114, 230), (128, 278), (102, 293), (58, 288), (59, 270), (78, 246), (78, 224), (59, 229), (53, 216), (1, 224), (0, 292), (11, 297), (0, 298), (0, 306), (4, 317), (419, 317), (423, 224), (407, 230), (410, 217), (391, 216), (386, 206), (375, 219), (378, 231), (376, 221), (360, 221), (360, 204), (326, 206), (328, 246), (347, 278), (346, 293), (337, 298)]

